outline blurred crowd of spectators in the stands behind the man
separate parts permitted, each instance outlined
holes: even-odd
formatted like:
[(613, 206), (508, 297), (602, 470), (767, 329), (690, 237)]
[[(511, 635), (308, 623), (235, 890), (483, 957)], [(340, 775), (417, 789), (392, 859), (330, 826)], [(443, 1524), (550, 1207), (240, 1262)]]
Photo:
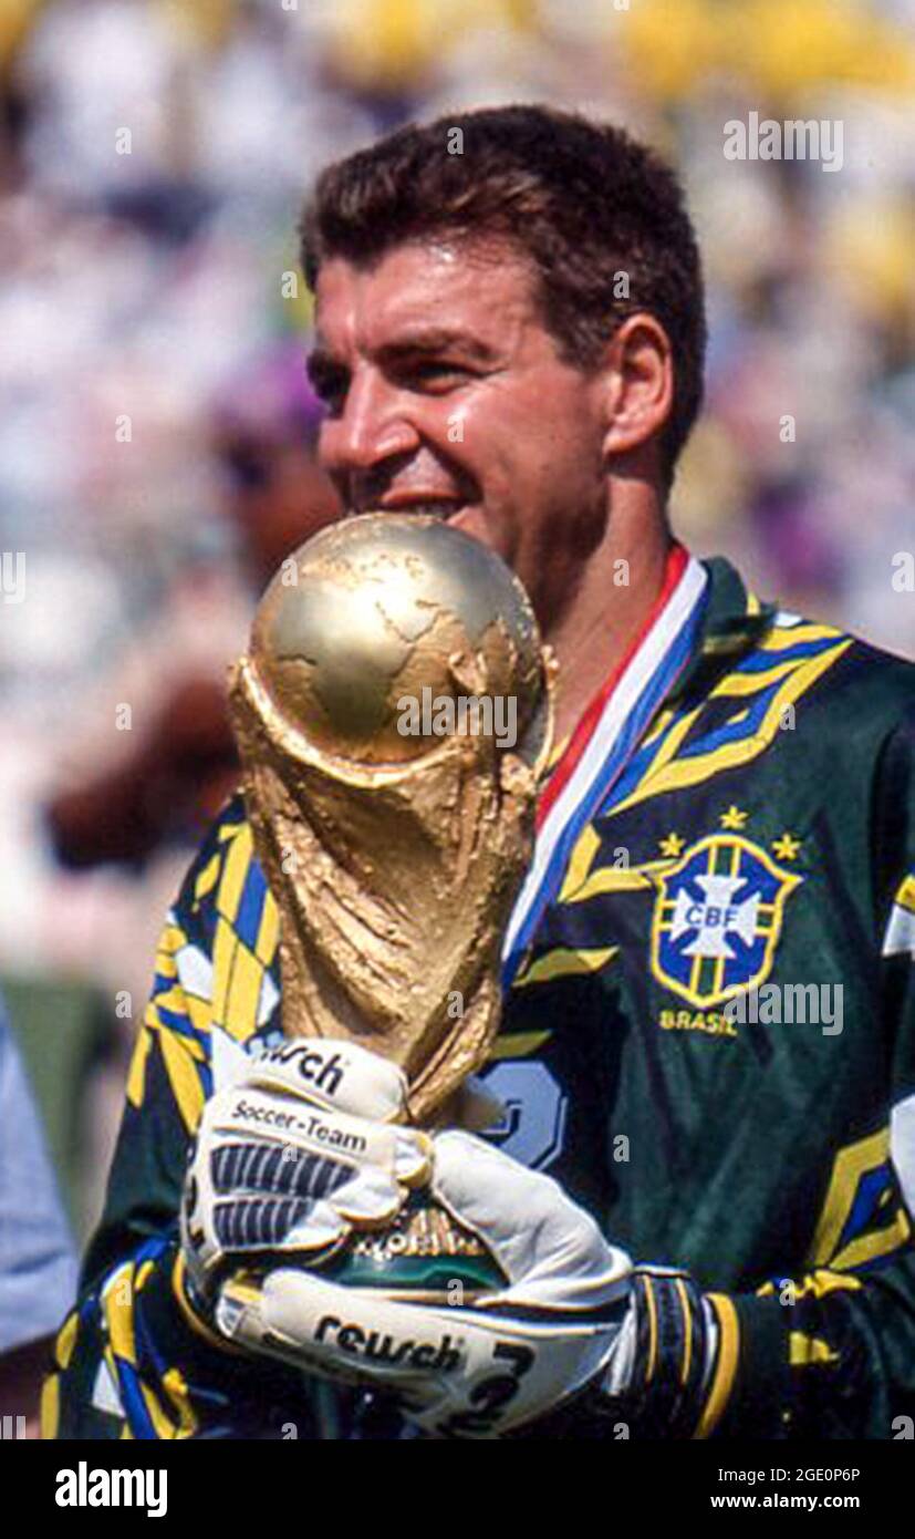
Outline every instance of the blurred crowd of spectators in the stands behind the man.
[[(234, 782), (226, 665), (337, 511), (303, 194), (411, 117), (506, 100), (621, 120), (684, 175), (710, 354), (678, 531), (915, 656), (890, 583), (915, 0), (0, 0), (0, 551), (26, 582), (0, 602), (0, 986), (80, 1231), (155, 934)], [(840, 119), (843, 169), (727, 162), (749, 111)]]

